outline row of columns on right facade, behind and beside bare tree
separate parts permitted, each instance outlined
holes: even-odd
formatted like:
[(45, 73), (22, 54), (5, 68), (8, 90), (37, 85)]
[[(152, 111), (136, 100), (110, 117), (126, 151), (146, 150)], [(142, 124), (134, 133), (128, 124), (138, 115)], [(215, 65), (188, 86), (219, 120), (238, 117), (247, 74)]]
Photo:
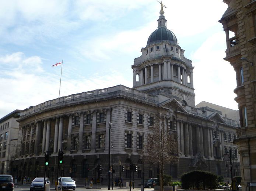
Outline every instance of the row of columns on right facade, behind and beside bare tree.
[[(191, 124), (184, 121), (176, 121), (178, 134), (178, 150), (185, 157), (201, 154), (206, 158), (214, 158), (213, 129)], [(195, 131), (195, 133), (193, 133)], [(194, 136), (195, 137), (194, 137)], [(220, 132), (220, 156), (224, 152), (223, 132)], [(194, 144), (194, 145), (193, 145)]]

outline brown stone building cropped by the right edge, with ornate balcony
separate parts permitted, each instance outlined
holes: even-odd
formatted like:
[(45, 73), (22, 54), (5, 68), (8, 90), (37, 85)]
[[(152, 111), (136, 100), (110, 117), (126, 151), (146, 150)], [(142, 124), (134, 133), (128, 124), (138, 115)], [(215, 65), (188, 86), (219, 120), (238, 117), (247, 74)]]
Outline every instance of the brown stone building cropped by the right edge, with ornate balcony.
[[(241, 128), (234, 141), (241, 158), (242, 190), (256, 190), (248, 182), (256, 182), (256, 24), (255, 0), (224, 0), (228, 4), (219, 22), (226, 33), (226, 57), (236, 71)], [(230, 34), (233, 34), (232, 36)]]

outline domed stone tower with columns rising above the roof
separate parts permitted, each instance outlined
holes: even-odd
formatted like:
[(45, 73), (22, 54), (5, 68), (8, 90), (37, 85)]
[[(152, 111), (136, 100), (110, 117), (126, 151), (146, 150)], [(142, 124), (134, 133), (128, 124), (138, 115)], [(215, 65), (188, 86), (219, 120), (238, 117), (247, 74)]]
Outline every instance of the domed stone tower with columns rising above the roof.
[(185, 58), (175, 34), (167, 29), (162, 9), (157, 21), (158, 29), (150, 34), (147, 46), (131, 66), (133, 88), (194, 106), (192, 61)]

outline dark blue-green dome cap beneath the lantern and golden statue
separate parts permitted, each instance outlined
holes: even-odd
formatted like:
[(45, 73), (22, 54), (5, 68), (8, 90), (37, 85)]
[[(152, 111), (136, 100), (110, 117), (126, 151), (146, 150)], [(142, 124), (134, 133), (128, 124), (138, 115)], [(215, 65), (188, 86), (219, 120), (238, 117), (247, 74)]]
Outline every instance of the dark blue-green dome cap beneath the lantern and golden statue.
[(166, 27), (159, 27), (157, 30), (152, 32), (148, 37), (147, 46), (166, 41), (178, 45), (178, 40), (175, 34), (171, 32), (171, 30), (167, 29)]

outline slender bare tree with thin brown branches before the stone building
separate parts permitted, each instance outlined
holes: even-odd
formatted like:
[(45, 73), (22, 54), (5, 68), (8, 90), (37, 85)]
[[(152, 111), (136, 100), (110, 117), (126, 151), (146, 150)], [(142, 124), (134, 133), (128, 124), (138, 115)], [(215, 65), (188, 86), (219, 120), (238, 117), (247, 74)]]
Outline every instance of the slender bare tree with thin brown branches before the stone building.
[(178, 161), (177, 136), (170, 131), (167, 120), (168, 118), (159, 112), (146, 146), (146, 155), (159, 166), (160, 191), (164, 188), (164, 164), (174, 164)]

